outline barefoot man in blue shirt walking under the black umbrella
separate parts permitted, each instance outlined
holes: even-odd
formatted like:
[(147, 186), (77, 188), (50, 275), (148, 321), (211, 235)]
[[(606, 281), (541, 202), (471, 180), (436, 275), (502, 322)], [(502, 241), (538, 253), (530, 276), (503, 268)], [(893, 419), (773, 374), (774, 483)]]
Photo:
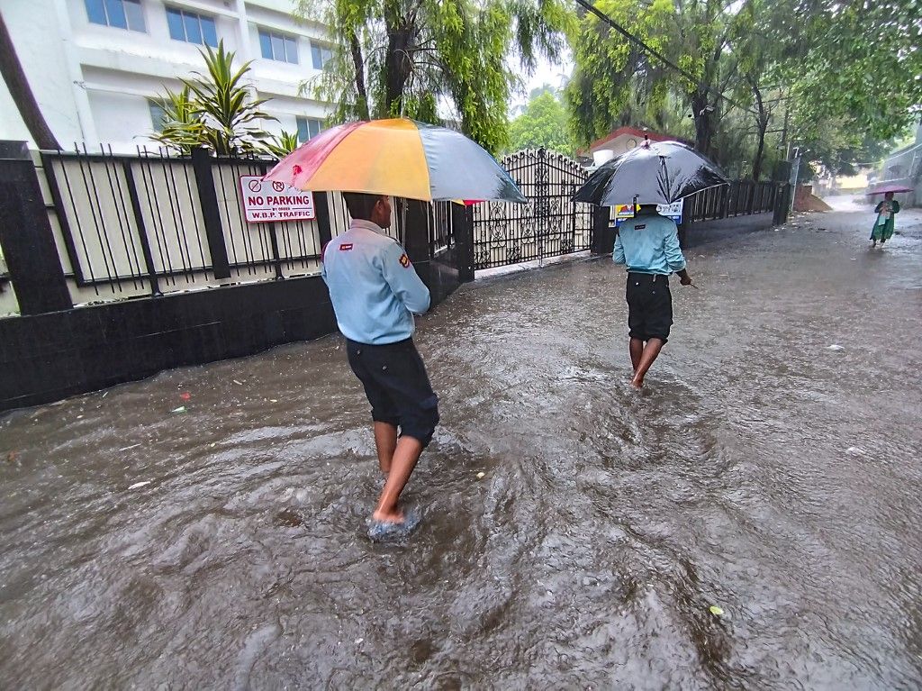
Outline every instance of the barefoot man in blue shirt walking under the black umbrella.
[(672, 326), (671, 273), (682, 285), (691, 285), (685, 257), (679, 246), (679, 229), (660, 216), (656, 204), (644, 204), (632, 219), (618, 228), (613, 254), (615, 264), (628, 268), (628, 328), (630, 329), (631, 386), (644, 386), (644, 376), (666, 345)]

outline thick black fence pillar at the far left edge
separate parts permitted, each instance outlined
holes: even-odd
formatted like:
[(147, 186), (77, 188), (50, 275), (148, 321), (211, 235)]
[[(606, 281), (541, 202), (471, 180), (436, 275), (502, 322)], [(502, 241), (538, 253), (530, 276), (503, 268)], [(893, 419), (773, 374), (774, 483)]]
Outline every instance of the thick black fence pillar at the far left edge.
[(20, 314), (74, 306), (26, 142), (0, 142), (0, 248)]

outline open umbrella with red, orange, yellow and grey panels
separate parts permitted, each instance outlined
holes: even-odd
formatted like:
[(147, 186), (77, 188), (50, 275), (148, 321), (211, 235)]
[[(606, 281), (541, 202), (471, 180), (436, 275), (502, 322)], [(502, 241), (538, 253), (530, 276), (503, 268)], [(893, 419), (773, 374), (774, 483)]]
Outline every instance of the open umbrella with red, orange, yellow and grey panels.
[(325, 130), (278, 161), (265, 179), (302, 190), (424, 201), (527, 201), (479, 144), (454, 130), (403, 118)]

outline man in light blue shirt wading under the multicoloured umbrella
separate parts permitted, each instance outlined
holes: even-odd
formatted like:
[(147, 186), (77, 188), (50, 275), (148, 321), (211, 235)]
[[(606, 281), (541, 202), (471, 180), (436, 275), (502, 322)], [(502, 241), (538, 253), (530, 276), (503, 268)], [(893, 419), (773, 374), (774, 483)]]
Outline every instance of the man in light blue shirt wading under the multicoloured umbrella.
[(386, 480), (369, 536), (386, 539), (419, 520), (405, 517), (397, 500), (439, 422), (438, 399), (413, 344), (413, 315), (429, 309), (430, 296), (403, 247), (384, 234), (391, 224), (388, 198), (343, 197), (352, 222), (326, 244), (321, 275), (346, 337), (349, 365), (372, 404), (374, 444)]

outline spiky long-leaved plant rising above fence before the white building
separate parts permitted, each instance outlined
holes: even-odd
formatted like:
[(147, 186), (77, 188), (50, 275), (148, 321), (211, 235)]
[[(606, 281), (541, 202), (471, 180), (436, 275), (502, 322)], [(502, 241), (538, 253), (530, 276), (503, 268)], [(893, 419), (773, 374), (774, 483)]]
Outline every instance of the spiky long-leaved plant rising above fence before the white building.
[(264, 150), (268, 137), (258, 123), (275, 120), (260, 110), (265, 99), (255, 99), (254, 89), (243, 82), (250, 63), (233, 69), (233, 52), (210, 46), (199, 51), (205, 60), (206, 74), (193, 73), (183, 79), (183, 89), (167, 89), (159, 102), (166, 113), (162, 132), (151, 135), (161, 143), (187, 153), (194, 147), (211, 149), (219, 156), (256, 153)]

